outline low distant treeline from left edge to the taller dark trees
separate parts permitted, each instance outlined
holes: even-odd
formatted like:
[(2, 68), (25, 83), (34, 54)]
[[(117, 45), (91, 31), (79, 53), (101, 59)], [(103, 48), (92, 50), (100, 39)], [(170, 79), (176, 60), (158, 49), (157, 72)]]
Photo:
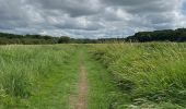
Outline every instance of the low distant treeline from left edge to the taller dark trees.
[(42, 36), (42, 35), (15, 35), (0, 33), (0, 45), (53, 45), (53, 44), (102, 44), (102, 43), (113, 43), (113, 41), (124, 41), (125, 39), (117, 38), (102, 38), (102, 39), (75, 39), (68, 36), (53, 37), (53, 36)]

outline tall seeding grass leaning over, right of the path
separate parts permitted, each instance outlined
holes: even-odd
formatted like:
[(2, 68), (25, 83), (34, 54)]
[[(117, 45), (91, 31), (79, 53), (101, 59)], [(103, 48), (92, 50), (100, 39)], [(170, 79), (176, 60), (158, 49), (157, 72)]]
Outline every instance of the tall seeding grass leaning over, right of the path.
[(133, 101), (185, 106), (186, 44), (113, 44), (93, 48), (94, 57)]

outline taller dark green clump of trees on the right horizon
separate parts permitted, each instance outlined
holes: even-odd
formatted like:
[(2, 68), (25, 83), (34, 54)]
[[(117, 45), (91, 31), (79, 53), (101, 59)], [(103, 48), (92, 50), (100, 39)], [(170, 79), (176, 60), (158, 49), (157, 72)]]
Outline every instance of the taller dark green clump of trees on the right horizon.
[(126, 38), (126, 41), (186, 41), (186, 28), (139, 32)]

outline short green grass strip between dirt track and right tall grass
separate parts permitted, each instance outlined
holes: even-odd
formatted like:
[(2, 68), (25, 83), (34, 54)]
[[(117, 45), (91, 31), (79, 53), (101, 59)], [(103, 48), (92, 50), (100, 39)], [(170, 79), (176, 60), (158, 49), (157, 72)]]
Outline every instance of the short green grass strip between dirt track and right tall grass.
[(89, 81), (89, 109), (124, 109), (130, 102), (129, 97), (119, 92), (113, 75), (91, 57), (88, 48), (83, 55)]

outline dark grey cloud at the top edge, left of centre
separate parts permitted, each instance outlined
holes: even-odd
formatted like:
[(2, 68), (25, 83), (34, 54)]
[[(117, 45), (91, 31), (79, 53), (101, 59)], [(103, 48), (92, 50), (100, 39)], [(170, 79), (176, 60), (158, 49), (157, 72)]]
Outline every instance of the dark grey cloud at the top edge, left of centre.
[[(95, 2), (93, 2), (95, 1)], [(61, 12), (68, 13), (72, 17), (81, 15), (91, 15), (97, 13), (100, 4), (96, 0), (32, 0), (28, 1), (35, 4), (37, 8), (44, 10), (59, 10)]]

